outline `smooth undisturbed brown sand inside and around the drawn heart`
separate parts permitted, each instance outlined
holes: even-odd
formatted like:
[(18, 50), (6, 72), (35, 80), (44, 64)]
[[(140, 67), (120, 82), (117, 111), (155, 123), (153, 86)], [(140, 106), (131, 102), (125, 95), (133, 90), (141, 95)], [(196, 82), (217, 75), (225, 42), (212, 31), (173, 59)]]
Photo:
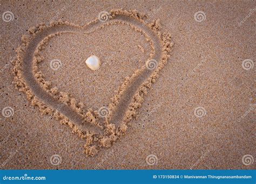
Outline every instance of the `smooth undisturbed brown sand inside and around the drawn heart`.
[[(0, 4), (2, 15), (13, 14), (13, 19), (2, 17), (0, 23), (0, 109), (13, 109), (9, 108), (10, 117), (1, 114), (1, 169), (256, 168), (255, 1)], [(119, 8), (145, 13), (146, 23), (159, 18), (159, 31), (170, 33), (174, 45), (125, 135), (86, 157), (85, 139), (42, 115), (12, 84), (15, 49), (29, 27), (59, 19), (83, 26), (99, 12)], [(202, 22), (194, 18), (198, 11), (204, 12)], [(98, 110), (111, 103), (125, 77), (145, 66), (150, 51), (141, 33), (127, 25), (109, 25), (86, 36), (53, 37), (41, 53), (44, 61), (38, 69), (85, 109)], [(90, 55), (99, 56), (99, 70), (86, 67)], [(57, 70), (50, 67), (53, 59), (62, 62)], [(125, 112), (124, 104), (130, 101), (122, 99), (118, 111)], [(117, 126), (120, 122), (116, 118)]]

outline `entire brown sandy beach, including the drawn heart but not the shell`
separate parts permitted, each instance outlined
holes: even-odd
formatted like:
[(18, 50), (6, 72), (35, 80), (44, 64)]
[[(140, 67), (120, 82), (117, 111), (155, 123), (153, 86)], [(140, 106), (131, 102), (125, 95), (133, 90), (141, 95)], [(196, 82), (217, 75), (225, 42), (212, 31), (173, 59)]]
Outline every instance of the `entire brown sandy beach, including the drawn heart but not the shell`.
[(126, 4), (1, 3), (1, 168), (255, 168), (255, 3)]

